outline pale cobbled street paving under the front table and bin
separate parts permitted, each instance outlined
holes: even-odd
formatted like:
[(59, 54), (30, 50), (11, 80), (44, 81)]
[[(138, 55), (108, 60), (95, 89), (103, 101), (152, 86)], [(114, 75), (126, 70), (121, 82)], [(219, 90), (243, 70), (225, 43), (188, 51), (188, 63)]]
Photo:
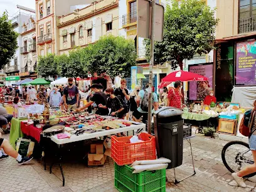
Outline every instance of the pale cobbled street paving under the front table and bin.
[[(7, 138), (7, 136), (5, 136)], [(191, 139), (195, 159), (196, 175), (178, 185), (173, 183), (173, 170), (167, 171), (169, 183), (166, 191), (256, 191), (255, 183), (246, 181), (247, 188), (238, 188), (231, 174), (221, 161), (221, 149), (227, 141), (196, 135)], [(12, 158), (1, 161), (0, 191), (117, 191), (114, 187), (114, 162), (108, 157), (104, 166), (87, 168), (82, 163), (64, 163), (66, 184), (62, 187), (58, 166), (53, 173), (43, 169), (39, 160), (18, 166)], [(177, 179), (193, 173), (191, 152), (188, 142), (184, 141), (183, 165), (176, 168)]]

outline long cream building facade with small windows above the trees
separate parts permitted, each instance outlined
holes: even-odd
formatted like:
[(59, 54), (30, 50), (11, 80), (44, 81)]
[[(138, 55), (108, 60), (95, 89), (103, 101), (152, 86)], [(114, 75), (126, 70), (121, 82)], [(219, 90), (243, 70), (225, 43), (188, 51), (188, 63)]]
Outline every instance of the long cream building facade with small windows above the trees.
[(68, 54), (104, 35), (119, 35), (119, 1), (102, 0), (58, 17), (58, 54)]

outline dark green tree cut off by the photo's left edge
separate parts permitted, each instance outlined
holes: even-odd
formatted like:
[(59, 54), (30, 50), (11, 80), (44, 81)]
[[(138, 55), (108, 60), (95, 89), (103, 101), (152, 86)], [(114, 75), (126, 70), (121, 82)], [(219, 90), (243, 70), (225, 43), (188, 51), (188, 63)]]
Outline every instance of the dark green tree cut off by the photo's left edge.
[(0, 16), (0, 68), (3, 68), (11, 58), (13, 58), (17, 45), (19, 34), (13, 30), (13, 26), (8, 21), (8, 14), (3, 13)]

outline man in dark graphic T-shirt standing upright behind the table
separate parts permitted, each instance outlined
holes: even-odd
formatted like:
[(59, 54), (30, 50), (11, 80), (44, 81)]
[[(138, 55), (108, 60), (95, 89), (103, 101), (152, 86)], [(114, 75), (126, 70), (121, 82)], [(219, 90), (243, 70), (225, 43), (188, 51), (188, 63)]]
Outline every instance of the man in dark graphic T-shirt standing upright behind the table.
[(79, 92), (73, 85), (73, 78), (68, 78), (68, 86), (64, 88), (63, 101), (66, 109), (76, 110), (79, 107)]

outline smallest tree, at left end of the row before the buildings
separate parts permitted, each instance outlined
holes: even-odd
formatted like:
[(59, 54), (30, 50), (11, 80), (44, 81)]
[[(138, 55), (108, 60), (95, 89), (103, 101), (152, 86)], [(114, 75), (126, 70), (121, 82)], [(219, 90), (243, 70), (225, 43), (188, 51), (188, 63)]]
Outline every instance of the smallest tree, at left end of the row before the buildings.
[(39, 56), (37, 72), (41, 77), (53, 77), (55, 80), (58, 75), (55, 55), (50, 53), (46, 56)]

